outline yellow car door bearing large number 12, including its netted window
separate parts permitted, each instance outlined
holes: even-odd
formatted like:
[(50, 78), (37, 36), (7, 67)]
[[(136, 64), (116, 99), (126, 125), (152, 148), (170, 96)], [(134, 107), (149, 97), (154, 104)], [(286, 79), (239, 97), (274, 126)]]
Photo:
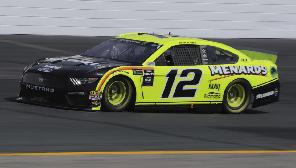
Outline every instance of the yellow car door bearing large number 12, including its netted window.
[(199, 45), (176, 45), (155, 59), (141, 80), (144, 102), (196, 102), (204, 76), (201, 53)]

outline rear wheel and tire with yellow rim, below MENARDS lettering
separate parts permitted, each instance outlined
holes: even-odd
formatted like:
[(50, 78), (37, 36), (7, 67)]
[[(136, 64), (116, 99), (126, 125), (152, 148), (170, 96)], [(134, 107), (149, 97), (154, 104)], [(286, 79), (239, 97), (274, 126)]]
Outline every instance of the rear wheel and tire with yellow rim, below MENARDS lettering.
[(228, 114), (240, 114), (249, 105), (251, 86), (245, 79), (236, 79), (229, 83), (223, 95), (222, 109)]

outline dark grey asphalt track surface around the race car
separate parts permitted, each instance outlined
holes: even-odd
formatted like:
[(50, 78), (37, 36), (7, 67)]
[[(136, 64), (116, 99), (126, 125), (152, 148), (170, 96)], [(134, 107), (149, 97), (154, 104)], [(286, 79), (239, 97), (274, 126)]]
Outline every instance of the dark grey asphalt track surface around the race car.
[[(209, 39), (279, 52), (280, 101), (243, 114), (91, 112), (17, 102), (23, 68), (112, 37), (0, 35), (0, 153), (296, 150), (295, 39)], [(295, 167), (296, 153), (0, 156), (0, 167)]]

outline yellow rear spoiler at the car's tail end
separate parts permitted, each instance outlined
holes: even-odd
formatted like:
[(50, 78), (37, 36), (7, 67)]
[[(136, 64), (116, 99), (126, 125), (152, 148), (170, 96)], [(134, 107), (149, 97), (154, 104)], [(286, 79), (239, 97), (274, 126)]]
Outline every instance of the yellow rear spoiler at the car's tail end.
[(252, 47), (233, 47), (236, 50), (239, 50), (249, 58), (253, 60), (265, 60), (270, 61), (275, 64), (278, 58), (278, 52), (252, 48)]

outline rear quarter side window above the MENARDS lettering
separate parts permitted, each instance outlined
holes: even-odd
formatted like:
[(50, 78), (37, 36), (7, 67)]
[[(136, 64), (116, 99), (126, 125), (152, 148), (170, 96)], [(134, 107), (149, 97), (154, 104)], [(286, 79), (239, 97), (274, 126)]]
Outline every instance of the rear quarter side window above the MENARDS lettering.
[(207, 46), (207, 50), (208, 64), (235, 64), (238, 61), (238, 56), (230, 51), (214, 46)]

